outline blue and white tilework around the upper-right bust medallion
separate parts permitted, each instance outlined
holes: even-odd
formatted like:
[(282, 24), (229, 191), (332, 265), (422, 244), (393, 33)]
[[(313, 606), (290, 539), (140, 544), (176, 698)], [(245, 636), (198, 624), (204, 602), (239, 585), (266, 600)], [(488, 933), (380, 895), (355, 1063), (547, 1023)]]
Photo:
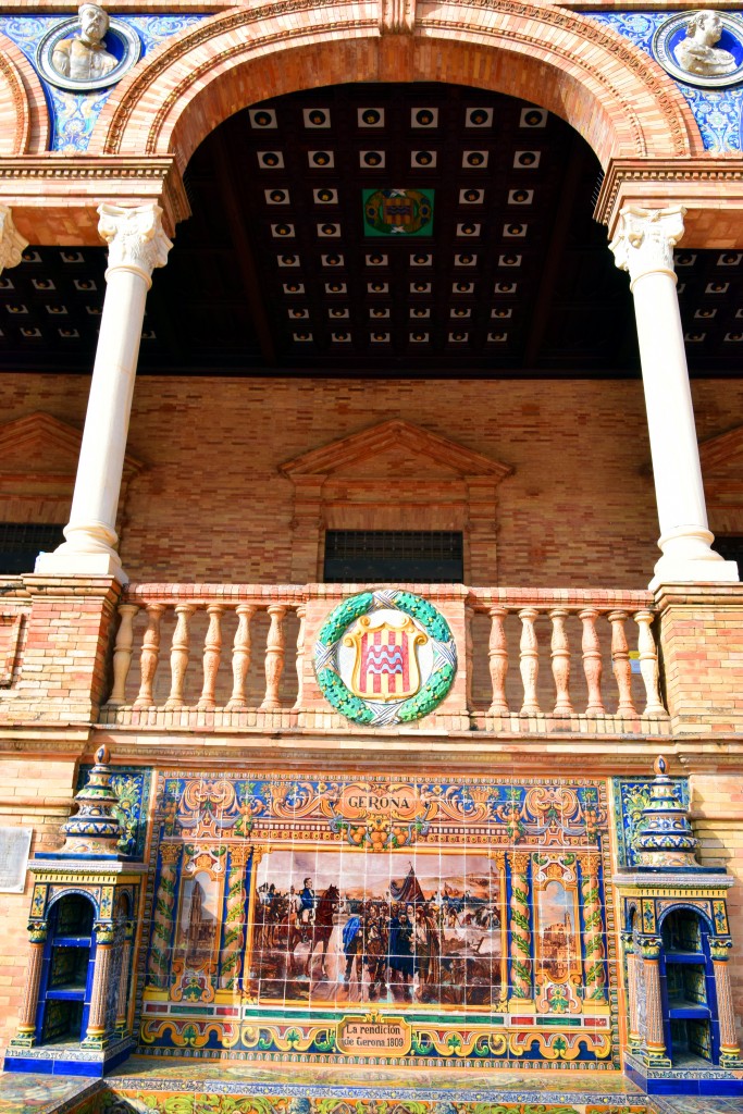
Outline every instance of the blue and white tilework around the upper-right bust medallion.
[[(668, 12), (592, 11), (590, 19), (610, 27), (653, 58), (653, 36)], [(707, 150), (715, 155), (743, 150), (743, 85), (726, 89), (696, 89), (682, 81), (676, 85), (692, 108)]]

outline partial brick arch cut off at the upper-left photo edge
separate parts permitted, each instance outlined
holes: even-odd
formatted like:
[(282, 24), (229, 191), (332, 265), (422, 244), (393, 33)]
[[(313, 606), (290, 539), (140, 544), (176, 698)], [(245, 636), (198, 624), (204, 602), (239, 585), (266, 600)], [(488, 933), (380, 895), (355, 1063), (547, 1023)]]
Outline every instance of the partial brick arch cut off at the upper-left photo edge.
[(0, 35), (0, 156), (38, 155), (48, 137), (41, 82), (16, 43)]

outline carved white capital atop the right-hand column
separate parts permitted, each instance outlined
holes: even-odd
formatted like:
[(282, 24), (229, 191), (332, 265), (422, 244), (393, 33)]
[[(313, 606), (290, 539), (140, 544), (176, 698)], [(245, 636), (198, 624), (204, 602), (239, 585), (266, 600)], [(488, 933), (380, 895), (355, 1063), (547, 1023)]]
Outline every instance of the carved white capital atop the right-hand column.
[(657, 272), (675, 280), (673, 250), (684, 235), (685, 212), (682, 205), (663, 209), (627, 205), (622, 209), (609, 248), (619, 270), (629, 272), (632, 285)]

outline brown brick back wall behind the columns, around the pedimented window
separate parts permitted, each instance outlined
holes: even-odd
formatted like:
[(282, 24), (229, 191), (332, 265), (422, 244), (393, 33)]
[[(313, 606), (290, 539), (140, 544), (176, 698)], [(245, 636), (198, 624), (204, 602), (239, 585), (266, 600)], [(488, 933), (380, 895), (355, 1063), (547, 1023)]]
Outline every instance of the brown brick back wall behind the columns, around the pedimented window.
[[(0, 412), (9, 421), (42, 410), (81, 428), (87, 391), (87, 377), (4, 375)], [(707, 436), (729, 428), (731, 393), (743, 401), (739, 384), (700, 384), (698, 421)], [(647, 584), (657, 522), (642, 389), (634, 381), (141, 378), (128, 447), (145, 467), (129, 485), (119, 519), (127, 573), (150, 582), (286, 583), (294, 491), (280, 466), (391, 418), (512, 467), (497, 492), (499, 584)], [(420, 478), (426, 506), (429, 462), (401, 451), (397, 463), (407, 480)], [(43, 463), (29, 461), (29, 468), (42, 470)], [(349, 476), (350, 488), (373, 477), (374, 468), (373, 458), (365, 460)], [(389, 461), (385, 469), (389, 475)], [(389, 502), (394, 508), (393, 475)], [(33, 520), (42, 508), (29, 498), (23, 512)], [(0, 498), (0, 518), (9, 514), (17, 520), (18, 500), (11, 508)], [(381, 525), (393, 522), (388, 509)], [(446, 507), (433, 514), (400, 507), (399, 528), (420, 524), (452, 528)], [(338, 514), (333, 525), (341, 525)], [(369, 514), (348, 525), (379, 524)], [(473, 561), (469, 580), (493, 583), (485, 555)]]

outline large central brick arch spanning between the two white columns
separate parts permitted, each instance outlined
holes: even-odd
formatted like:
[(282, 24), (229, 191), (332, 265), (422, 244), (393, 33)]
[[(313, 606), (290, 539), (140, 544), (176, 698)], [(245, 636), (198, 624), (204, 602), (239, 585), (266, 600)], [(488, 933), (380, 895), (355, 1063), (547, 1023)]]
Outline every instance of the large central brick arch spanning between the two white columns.
[(283, 0), (214, 17), (121, 82), (90, 153), (175, 153), (183, 169), (206, 135), (247, 105), (348, 81), (421, 80), (536, 101), (576, 128), (603, 166), (612, 157), (702, 153), (674, 82), (587, 17), (522, 0), (420, 0), (412, 33), (400, 35), (381, 33), (379, 16), (373, 0)]

